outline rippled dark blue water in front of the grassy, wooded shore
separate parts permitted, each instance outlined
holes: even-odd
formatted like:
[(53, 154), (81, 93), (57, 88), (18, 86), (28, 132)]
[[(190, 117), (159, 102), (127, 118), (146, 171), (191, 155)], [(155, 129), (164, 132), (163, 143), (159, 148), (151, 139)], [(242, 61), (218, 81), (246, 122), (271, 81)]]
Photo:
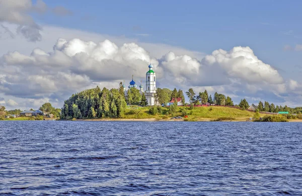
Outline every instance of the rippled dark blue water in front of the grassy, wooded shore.
[(302, 195), (302, 123), (0, 122), (1, 195)]

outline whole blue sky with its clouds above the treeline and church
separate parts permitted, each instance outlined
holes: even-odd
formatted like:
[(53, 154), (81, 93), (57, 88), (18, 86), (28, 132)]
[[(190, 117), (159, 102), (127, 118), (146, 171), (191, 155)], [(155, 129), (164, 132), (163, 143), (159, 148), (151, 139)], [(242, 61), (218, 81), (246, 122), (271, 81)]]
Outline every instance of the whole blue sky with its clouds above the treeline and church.
[(144, 84), (302, 106), (301, 1), (0, 0), (0, 105)]

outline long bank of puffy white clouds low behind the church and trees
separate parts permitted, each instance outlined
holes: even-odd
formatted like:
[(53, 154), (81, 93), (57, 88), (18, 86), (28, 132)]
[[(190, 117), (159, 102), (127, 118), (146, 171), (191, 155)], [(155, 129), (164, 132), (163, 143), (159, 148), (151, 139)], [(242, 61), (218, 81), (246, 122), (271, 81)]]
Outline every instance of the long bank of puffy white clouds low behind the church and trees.
[(117, 87), (119, 81), (130, 81), (132, 74), (139, 83), (144, 81), (150, 61), (157, 72), (158, 87), (184, 91), (206, 88), (212, 94), (217, 91), (238, 99), (270, 98), (279, 103), (288, 99), (284, 94), (298, 91), (298, 82), (284, 81), (249, 47), (204, 55), (125, 37), (50, 26), (43, 29), (45, 39), (41, 42), (25, 42), (17, 35), (4, 40), (5, 48), (0, 47), (0, 68), (4, 70), (0, 73), (0, 96), (6, 100), (10, 97), (21, 108), (37, 109), (44, 101), (61, 107), (72, 93), (96, 85)]

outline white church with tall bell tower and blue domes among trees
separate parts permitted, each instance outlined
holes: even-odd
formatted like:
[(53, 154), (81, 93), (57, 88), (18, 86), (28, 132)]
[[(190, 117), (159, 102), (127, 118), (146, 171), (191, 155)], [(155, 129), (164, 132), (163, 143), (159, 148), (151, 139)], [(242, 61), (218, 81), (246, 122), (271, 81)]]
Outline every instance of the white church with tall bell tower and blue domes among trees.
[[(149, 64), (149, 70), (146, 72), (146, 90), (143, 91), (143, 85), (140, 84), (139, 89), (140, 93), (142, 94), (143, 92), (145, 93), (146, 100), (148, 102), (148, 106), (154, 106), (157, 105), (155, 101), (155, 94), (156, 94), (156, 74), (153, 71), (153, 65), (150, 63)], [(132, 80), (130, 81), (130, 85), (128, 88), (136, 88), (137, 85), (135, 81), (133, 80), (133, 75), (132, 75)], [(124, 92), (127, 94), (126, 90), (126, 85), (123, 84)]]

